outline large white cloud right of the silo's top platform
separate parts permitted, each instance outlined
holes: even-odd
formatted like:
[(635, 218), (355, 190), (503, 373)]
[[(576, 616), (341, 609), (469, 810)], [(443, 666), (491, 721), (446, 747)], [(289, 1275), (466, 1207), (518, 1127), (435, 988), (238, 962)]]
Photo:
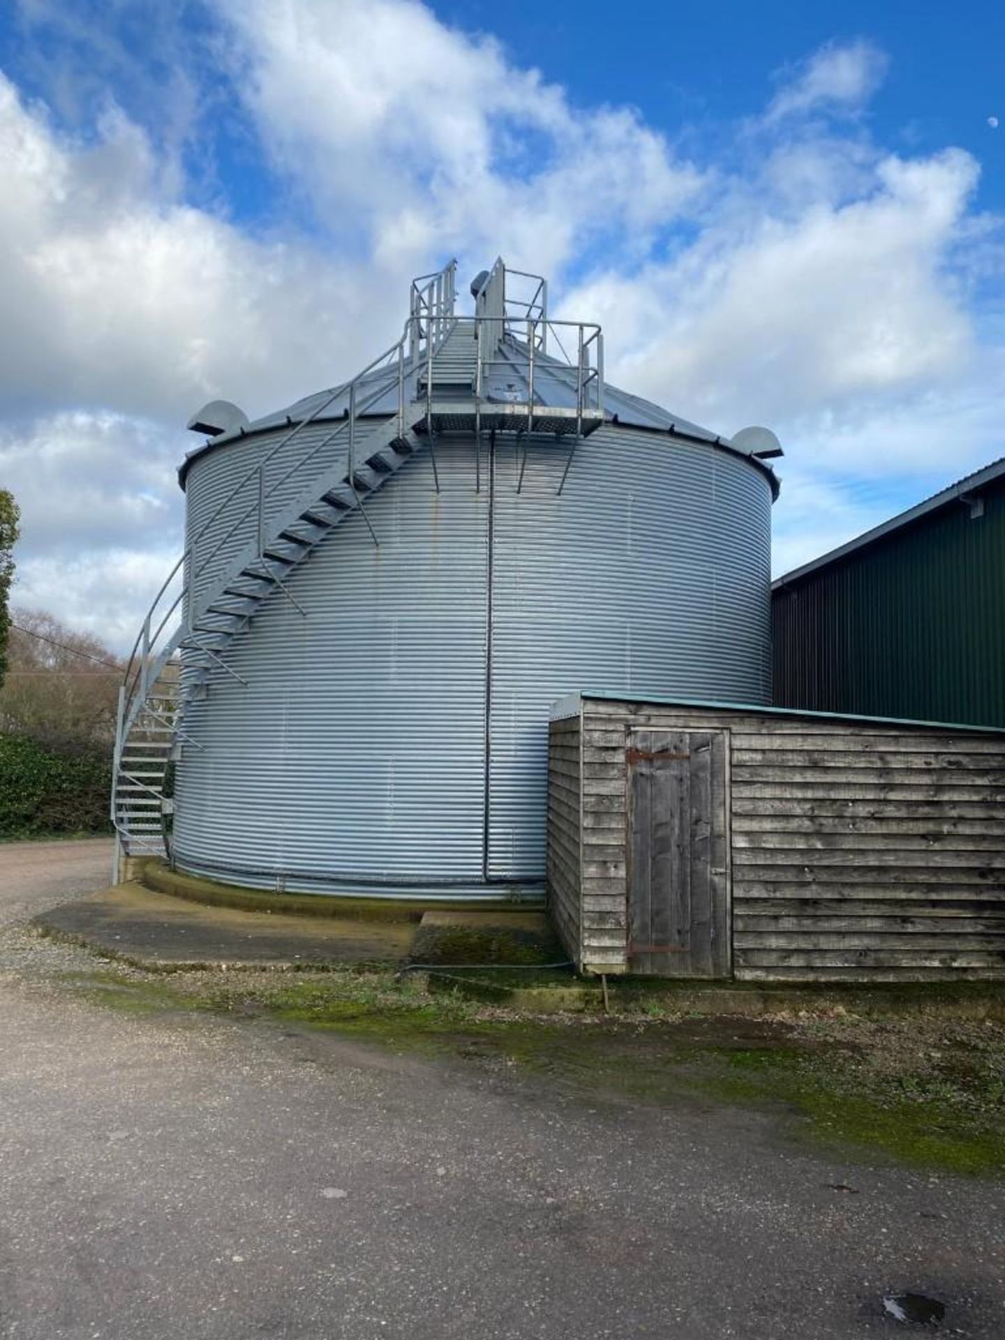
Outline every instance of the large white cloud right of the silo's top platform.
[(725, 431), (855, 421), (969, 366), (972, 324), (945, 261), (976, 180), (959, 150), (883, 158), (848, 204), (793, 217), (762, 197), (745, 226), (710, 221), (671, 261), (634, 280), (607, 272), (568, 306), (603, 322), (612, 374)]

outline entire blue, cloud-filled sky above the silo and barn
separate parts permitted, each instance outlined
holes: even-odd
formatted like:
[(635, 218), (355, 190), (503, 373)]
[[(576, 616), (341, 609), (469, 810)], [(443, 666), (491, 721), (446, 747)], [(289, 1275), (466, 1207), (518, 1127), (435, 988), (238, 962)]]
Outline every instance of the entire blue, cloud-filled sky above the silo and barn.
[(1002, 52), (990, 4), (8, 4), (16, 599), (127, 641), (189, 413), (350, 375), (449, 255), (548, 273), (619, 385), (772, 426), (779, 571), (1005, 454)]

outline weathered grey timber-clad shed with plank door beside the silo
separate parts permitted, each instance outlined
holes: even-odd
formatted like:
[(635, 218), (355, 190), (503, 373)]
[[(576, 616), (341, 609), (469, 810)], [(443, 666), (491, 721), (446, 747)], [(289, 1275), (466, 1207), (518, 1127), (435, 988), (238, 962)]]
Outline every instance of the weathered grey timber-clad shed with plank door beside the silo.
[(1005, 977), (1002, 732), (583, 697), (549, 779), (586, 970)]

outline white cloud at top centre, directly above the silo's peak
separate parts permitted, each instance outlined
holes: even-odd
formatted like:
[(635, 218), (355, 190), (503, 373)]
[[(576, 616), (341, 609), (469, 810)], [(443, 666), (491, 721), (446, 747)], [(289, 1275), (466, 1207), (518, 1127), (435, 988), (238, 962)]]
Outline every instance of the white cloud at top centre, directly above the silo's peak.
[(603, 236), (645, 251), (704, 174), (624, 107), (579, 111), (497, 42), (409, 0), (220, 0), (276, 165), (379, 263), (497, 252), (555, 275)]

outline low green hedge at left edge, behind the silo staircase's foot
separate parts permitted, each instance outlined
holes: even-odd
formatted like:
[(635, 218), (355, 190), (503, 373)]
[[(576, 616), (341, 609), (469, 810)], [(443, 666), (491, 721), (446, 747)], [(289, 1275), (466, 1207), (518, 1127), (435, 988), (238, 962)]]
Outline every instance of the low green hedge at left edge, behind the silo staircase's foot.
[(0, 734), (0, 839), (111, 832), (111, 750), (55, 753)]

